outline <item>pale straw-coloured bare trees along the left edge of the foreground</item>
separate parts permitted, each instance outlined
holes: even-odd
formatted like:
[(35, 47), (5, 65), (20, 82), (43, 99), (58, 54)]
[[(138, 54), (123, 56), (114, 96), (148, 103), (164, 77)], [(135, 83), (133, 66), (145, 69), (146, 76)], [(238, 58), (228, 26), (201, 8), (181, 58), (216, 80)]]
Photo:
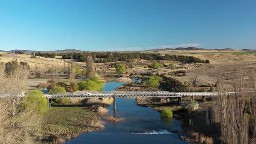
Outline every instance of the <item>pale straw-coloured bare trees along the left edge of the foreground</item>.
[(31, 144), (40, 135), (42, 119), (33, 108), (22, 108), (28, 70), (18, 67), (11, 75), (0, 67), (0, 144)]

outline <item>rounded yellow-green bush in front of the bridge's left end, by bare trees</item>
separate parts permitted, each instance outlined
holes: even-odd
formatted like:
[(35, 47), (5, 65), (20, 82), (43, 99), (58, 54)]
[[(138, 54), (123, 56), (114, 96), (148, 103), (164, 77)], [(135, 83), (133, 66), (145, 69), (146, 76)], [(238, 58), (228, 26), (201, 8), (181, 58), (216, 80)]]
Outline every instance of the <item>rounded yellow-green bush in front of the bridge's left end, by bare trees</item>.
[(44, 93), (40, 90), (27, 92), (26, 97), (22, 99), (24, 108), (36, 109), (39, 114), (43, 114), (48, 110), (48, 103)]

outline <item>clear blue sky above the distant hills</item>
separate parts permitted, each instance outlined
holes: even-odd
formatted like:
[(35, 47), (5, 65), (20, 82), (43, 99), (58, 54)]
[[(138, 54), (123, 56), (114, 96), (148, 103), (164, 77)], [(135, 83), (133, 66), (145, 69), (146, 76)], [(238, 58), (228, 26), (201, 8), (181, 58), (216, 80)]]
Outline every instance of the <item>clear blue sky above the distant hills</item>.
[(0, 0), (0, 50), (256, 49), (256, 0)]

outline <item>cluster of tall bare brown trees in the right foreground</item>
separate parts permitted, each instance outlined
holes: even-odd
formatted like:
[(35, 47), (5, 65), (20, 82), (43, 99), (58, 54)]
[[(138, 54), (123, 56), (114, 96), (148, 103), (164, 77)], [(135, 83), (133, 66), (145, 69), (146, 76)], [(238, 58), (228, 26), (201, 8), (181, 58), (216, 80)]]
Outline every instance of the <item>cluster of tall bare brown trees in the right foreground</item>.
[(227, 94), (224, 81), (218, 80), (219, 97), (217, 97), (213, 118), (220, 123), (221, 141), (223, 144), (248, 144), (248, 118), (245, 117), (246, 95), (242, 72), (236, 72), (233, 79), (234, 94)]

